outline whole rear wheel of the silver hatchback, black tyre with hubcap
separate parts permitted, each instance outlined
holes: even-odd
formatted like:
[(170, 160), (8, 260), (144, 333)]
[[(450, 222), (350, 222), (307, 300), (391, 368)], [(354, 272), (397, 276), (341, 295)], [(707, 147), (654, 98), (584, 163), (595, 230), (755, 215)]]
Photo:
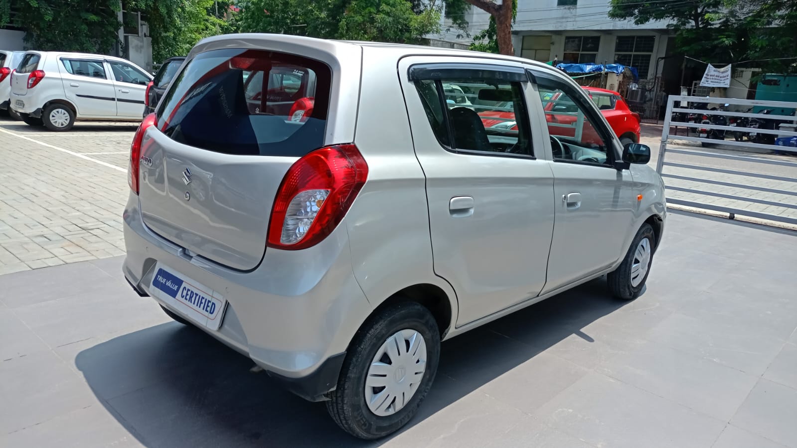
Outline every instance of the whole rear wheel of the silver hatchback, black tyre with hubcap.
[[(439, 357), (440, 332), (428, 308), (416, 302), (384, 308), (351, 341), (337, 387), (327, 402), (329, 415), (357, 438), (381, 438), (399, 430), (426, 397)], [(424, 358), (422, 373), (413, 371)], [(417, 383), (410, 381), (411, 375), (419, 375)], [(371, 379), (369, 384), (367, 379)], [(383, 381), (385, 386), (380, 385)], [(379, 401), (383, 393), (385, 399)]]

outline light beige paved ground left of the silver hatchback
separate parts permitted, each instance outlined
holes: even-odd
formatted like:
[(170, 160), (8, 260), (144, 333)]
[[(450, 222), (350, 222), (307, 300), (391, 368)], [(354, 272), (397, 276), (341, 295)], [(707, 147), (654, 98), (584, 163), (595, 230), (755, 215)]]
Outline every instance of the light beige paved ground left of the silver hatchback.
[(124, 253), (133, 132), (78, 124), (55, 133), (0, 119), (0, 274)]

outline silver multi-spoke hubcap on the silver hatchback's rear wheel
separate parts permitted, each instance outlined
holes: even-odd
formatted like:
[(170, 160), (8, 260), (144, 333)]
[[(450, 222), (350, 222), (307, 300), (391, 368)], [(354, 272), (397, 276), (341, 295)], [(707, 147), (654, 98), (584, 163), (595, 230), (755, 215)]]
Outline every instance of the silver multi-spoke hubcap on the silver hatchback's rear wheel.
[(426, 341), (415, 330), (395, 333), (376, 351), (365, 378), (365, 403), (385, 416), (406, 406), (426, 371)]

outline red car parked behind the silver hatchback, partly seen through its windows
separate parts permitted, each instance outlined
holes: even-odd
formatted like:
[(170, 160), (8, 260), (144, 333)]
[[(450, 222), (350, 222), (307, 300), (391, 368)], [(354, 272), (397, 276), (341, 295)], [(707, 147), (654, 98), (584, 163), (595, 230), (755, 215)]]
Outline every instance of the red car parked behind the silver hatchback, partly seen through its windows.
[[(628, 104), (626, 104), (626, 101), (622, 99), (622, 96), (620, 96), (618, 92), (596, 87), (585, 87), (584, 90), (587, 91), (587, 94), (592, 98), (595, 104), (598, 105), (598, 108), (603, 113), (603, 116), (606, 117), (614, 133), (620, 137), (622, 144), (639, 142), (639, 114), (637, 112), (631, 112), (630, 108), (628, 108)], [(567, 96), (562, 96), (562, 92), (540, 93), (543, 96), (545, 111), (550, 112), (545, 114), (545, 119), (549, 124), (575, 124), (578, 117), (571, 114), (577, 112), (578, 108), (575, 107), (575, 104), (571, 103)], [(511, 104), (508, 106), (511, 106)], [(500, 105), (497, 108), (500, 109)], [(508, 108), (511, 109), (511, 107)], [(493, 110), (479, 112), (479, 116), (481, 116), (481, 123), (485, 125), (485, 128), (505, 127), (512, 130), (517, 129), (514, 123), (515, 114), (513, 112)], [(554, 126), (549, 125), (548, 128), (553, 134), (558, 136), (567, 136), (569, 132), (575, 135), (575, 126), (572, 128), (556, 126), (556, 130), (554, 130)], [(591, 126), (584, 127), (582, 140), (584, 142), (595, 142), (596, 144), (601, 143), (599, 136)]]

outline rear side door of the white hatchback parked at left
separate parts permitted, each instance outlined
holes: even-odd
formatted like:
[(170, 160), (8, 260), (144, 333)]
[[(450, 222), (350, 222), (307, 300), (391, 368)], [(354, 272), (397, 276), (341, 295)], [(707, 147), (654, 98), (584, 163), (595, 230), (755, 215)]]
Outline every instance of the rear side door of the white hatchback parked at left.
[(116, 94), (102, 59), (60, 57), (66, 99), (79, 116), (116, 116)]

